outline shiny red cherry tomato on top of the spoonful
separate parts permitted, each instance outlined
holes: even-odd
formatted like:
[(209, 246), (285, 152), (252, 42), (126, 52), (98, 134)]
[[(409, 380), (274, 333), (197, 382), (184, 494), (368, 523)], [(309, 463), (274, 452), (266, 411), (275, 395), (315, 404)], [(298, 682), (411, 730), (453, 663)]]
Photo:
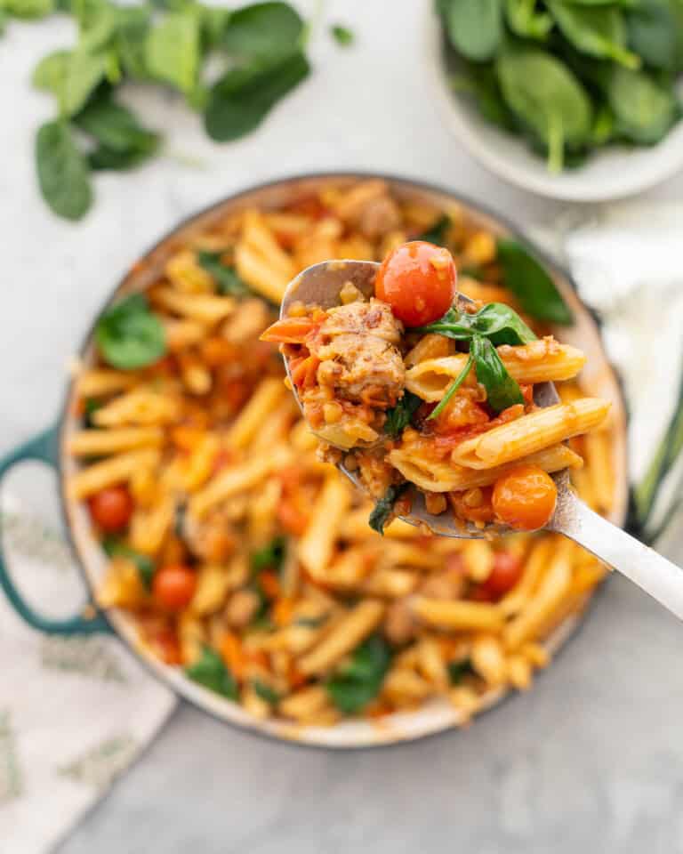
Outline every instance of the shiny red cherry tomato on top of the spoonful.
[(377, 299), (389, 302), (406, 326), (443, 317), (455, 295), (455, 264), (442, 246), (414, 240), (397, 246), (382, 262), (374, 283)]

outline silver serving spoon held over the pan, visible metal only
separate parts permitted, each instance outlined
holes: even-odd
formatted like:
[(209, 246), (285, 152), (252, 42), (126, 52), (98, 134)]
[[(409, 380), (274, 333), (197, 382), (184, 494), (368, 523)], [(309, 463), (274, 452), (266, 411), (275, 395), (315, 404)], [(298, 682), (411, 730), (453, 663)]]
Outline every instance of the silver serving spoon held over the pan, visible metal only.
[[(319, 305), (324, 309), (340, 304), (339, 294), (347, 282), (351, 282), (366, 297), (374, 295), (374, 278), (379, 264), (366, 261), (329, 261), (314, 264), (294, 278), (285, 291), (280, 307), (280, 318), (285, 318), (294, 302)], [(458, 294), (460, 302), (472, 302), (464, 294)], [(285, 370), (289, 376), (289, 365), (285, 359)], [(301, 400), (292, 383), (293, 394), (301, 408)], [(538, 383), (534, 386), (534, 402), (539, 407), (550, 407), (559, 402), (553, 383)], [(359, 489), (364, 490), (355, 472), (342, 462), (337, 468)], [(626, 534), (611, 522), (581, 501), (569, 482), (569, 472), (558, 471), (553, 475), (558, 487), (555, 512), (546, 530), (564, 534), (575, 543), (583, 545), (607, 566), (618, 569), (624, 576), (638, 584), (665, 608), (683, 619), (683, 571)], [(400, 518), (412, 525), (429, 528), (440, 536), (455, 536), (466, 539), (497, 536), (510, 533), (510, 528), (489, 524), (485, 528), (475, 525), (463, 526), (456, 523), (450, 513), (435, 516), (427, 511), (422, 493), (413, 487), (410, 516)]]

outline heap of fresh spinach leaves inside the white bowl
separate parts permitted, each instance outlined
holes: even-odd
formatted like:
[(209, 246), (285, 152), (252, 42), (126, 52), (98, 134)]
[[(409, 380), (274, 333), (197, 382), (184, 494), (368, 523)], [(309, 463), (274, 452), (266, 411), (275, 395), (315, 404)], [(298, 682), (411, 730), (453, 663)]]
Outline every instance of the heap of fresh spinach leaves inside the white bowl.
[(680, 0), (437, 0), (454, 87), (549, 169), (654, 145), (681, 115)]

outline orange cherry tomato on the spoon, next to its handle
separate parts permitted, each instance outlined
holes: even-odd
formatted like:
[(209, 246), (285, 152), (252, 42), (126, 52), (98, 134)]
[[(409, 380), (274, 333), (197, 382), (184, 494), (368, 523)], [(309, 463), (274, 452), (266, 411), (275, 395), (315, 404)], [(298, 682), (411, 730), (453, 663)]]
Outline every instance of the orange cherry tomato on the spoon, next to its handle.
[(510, 528), (534, 531), (555, 512), (555, 481), (537, 465), (515, 466), (495, 482), (493, 504), (499, 520)]

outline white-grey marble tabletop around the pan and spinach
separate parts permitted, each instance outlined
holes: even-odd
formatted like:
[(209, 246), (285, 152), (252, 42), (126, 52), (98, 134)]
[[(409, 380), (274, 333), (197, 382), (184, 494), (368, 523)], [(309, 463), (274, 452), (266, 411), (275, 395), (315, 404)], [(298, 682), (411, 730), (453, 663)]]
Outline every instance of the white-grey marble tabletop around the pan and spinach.
[[(77, 225), (52, 218), (36, 194), (33, 133), (52, 107), (28, 82), (37, 58), (68, 40), (68, 25), (9, 28), (0, 43), (0, 451), (55, 416), (68, 359), (127, 264), (222, 194), (289, 173), (364, 168), (444, 183), (519, 222), (559, 213), (502, 185), (446, 133), (422, 62), (427, 4), (331, 0), (327, 18), (355, 28), (357, 47), (318, 34), (313, 77), (231, 146), (206, 141), (172, 97), (139, 94), (173, 154), (201, 165), (167, 157), (101, 177), (97, 205)], [(683, 176), (649, 195), (680, 198)], [(324, 753), (181, 707), (60, 854), (683, 851), (681, 649), (674, 618), (615, 579), (534, 691), (468, 732)]]

